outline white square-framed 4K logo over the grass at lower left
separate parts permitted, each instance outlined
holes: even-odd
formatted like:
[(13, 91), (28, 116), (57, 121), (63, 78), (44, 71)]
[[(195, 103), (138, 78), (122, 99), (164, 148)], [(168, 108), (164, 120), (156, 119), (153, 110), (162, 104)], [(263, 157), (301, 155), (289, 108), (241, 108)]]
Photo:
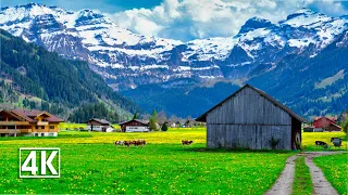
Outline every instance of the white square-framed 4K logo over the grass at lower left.
[(20, 178), (60, 178), (61, 150), (57, 147), (21, 147)]

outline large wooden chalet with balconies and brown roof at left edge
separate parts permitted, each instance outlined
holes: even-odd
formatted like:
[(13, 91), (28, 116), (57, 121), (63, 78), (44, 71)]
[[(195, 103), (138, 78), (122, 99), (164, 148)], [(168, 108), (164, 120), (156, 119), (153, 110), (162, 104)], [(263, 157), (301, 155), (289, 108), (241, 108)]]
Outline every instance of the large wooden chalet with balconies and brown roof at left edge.
[(44, 110), (0, 110), (1, 136), (57, 136), (64, 120)]

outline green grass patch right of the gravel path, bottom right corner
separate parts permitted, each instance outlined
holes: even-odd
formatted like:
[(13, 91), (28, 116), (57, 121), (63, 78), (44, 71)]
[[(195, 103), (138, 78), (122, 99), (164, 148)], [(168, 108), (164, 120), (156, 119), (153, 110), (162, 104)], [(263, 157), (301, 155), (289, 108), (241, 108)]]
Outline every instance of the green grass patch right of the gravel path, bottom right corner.
[(348, 155), (320, 156), (314, 158), (314, 162), (320, 167), (325, 178), (339, 192), (348, 194)]

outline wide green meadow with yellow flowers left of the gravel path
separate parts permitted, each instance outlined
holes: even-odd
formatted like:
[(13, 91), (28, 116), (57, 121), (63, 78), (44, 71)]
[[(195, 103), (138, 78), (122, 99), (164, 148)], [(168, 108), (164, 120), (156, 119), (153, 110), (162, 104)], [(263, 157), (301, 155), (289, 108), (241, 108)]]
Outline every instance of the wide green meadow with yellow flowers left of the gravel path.
[[(304, 133), (303, 139), (315, 140), (312, 135)], [(116, 140), (135, 139), (145, 139), (148, 145), (113, 145)], [(181, 140), (195, 143), (182, 146)], [(303, 143), (313, 147), (311, 142)], [(58, 138), (2, 138), (0, 194), (263, 194), (283, 170), (286, 158), (295, 154), (204, 146), (203, 128), (150, 133), (62, 131)], [(18, 179), (18, 147), (60, 147), (61, 178)]]

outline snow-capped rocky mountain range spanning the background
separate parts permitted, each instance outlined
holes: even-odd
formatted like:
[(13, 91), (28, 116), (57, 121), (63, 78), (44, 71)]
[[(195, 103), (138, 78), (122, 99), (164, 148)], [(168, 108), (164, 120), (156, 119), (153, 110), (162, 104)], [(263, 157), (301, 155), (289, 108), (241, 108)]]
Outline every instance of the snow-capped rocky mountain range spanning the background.
[(347, 48), (348, 17), (301, 9), (276, 24), (252, 17), (234, 37), (182, 42), (134, 34), (91, 10), (29, 3), (2, 8), (0, 28), (69, 58), (89, 62), (109, 86), (123, 91), (145, 84), (240, 83), (277, 75), (281, 65), (291, 69), (283, 63), (290, 56), (315, 58), (335, 42)]

